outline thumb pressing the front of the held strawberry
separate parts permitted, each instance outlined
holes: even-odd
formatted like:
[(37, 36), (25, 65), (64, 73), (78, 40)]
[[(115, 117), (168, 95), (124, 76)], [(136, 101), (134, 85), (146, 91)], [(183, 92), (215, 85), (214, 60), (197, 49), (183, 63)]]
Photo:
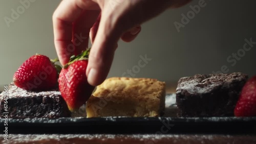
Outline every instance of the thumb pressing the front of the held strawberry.
[(87, 67), (88, 82), (93, 86), (101, 84), (106, 79), (112, 65), (117, 42), (122, 34), (114, 23), (116, 22), (101, 15)]

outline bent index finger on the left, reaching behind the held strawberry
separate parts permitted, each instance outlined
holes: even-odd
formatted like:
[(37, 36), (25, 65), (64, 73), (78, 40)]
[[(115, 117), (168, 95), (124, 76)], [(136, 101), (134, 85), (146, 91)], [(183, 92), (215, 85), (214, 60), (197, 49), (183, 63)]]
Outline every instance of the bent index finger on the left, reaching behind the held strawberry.
[(78, 18), (82, 9), (74, 2), (63, 0), (53, 14), (54, 44), (62, 65), (69, 61), (75, 51), (72, 43), (72, 22)]

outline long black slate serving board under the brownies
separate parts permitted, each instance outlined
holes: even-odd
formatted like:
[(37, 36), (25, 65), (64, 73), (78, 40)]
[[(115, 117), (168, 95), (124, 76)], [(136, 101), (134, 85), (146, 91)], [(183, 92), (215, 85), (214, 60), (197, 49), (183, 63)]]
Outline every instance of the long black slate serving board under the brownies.
[[(256, 117), (176, 117), (175, 94), (166, 94), (163, 117), (8, 119), (9, 134), (256, 134)], [(6, 119), (0, 118), (4, 131)]]

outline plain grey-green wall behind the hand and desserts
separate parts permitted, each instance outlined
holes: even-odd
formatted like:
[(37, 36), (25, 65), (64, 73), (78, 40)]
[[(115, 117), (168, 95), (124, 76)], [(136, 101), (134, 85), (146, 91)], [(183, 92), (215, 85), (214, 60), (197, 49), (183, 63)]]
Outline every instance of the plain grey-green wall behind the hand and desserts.
[[(59, 2), (37, 0), (8, 27), (4, 17), (11, 18), (11, 9), (16, 11), (22, 5), (19, 1), (0, 0), (0, 89), (12, 81), (19, 65), (35, 53), (56, 57), (52, 14)], [(184, 76), (210, 74), (223, 65), (228, 73), (256, 75), (256, 44), (235, 65), (227, 61), (232, 53), (242, 52), (245, 39), (256, 41), (256, 1), (205, 0), (206, 6), (178, 32), (174, 22), (181, 23), (181, 14), (187, 15), (189, 6), (198, 3), (194, 0), (182, 8), (167, 10), (144, 23), (133, 42), (120, 41), (109, 77), (120, 77), (138, 65), (140, 55), (152, 60), (135, 77), (167, 83)]]

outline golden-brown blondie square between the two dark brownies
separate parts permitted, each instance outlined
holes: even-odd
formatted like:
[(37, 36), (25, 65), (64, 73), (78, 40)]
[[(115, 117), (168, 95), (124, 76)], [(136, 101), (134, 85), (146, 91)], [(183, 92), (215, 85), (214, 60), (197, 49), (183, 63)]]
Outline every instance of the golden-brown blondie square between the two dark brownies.
[(87, 101), (87, 117), (155, 117), (163, 114), (165, 83), (147, 78), (109, 78)]

